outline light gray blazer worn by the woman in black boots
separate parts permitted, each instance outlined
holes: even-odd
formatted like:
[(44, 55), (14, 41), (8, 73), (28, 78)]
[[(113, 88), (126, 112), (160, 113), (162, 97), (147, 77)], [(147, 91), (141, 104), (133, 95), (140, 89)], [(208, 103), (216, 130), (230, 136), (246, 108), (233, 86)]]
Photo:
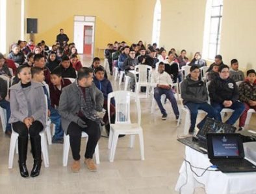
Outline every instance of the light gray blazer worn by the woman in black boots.
[[(28, 95), (29, 102), (31, 102), (31, 113), (34, 120), (40, 121), (44, 127), (46, 125), (46, 111), (47, 105), (45, 102), (45, 94), (42, 83), (31, 81), (31, 91)], [(21, 88), (21, 82), (10, 87), (10, 119), (9, 123), (21, 121), (28, 117), (29, 110), (27, 106), (25, 94)]]

